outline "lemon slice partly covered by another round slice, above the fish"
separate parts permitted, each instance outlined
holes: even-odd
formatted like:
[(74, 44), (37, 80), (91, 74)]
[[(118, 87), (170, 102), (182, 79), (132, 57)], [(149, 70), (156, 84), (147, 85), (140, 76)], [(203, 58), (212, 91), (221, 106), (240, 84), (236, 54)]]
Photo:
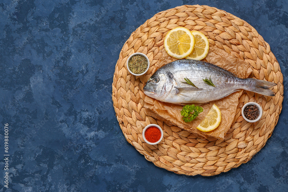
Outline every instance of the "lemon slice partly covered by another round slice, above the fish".
[(200, 31), (191, 31), (194, 35), (194, 50), (185, 59), (201, 60), (204, 59), (209, 51), (209, 41)]

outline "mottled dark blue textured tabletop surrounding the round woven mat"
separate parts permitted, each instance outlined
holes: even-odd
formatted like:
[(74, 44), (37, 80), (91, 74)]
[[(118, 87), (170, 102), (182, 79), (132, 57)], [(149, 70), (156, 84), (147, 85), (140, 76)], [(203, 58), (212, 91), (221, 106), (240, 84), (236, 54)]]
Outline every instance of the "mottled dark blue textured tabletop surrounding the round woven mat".
[[(223, 9), (270, 44), (284, 75), (279, 121), (247, 164), (213, 177), (154, 166), (124, 138), (111, 100), (130, 34), (179, 5)], [(9, 124), (9, 188), (0, 191), (287, 191), (286, 0), (0, 0), (0, 155)]]

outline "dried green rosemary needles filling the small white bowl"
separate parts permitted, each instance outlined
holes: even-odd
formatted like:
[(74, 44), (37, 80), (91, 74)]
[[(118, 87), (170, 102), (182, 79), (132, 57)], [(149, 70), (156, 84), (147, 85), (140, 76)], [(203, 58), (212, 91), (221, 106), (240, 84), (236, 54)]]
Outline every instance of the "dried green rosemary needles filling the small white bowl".
[(148, 61), (143, 55), (134, 55), (128, 62), (128, 67), (132, 73), (141, 74), (148, 66)]

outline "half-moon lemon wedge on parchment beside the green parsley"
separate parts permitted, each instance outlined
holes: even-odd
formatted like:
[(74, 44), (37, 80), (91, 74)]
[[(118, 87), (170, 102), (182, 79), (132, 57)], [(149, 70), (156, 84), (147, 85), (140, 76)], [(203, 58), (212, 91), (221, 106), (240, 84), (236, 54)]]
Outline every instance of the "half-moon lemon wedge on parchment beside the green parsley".
[(221, 121), (221, 111), (213, 104), (210, 111), (207, 113), (203, 121), (197, 126), (197, 129), (203, 132), (208, 132), (216, 129)]

